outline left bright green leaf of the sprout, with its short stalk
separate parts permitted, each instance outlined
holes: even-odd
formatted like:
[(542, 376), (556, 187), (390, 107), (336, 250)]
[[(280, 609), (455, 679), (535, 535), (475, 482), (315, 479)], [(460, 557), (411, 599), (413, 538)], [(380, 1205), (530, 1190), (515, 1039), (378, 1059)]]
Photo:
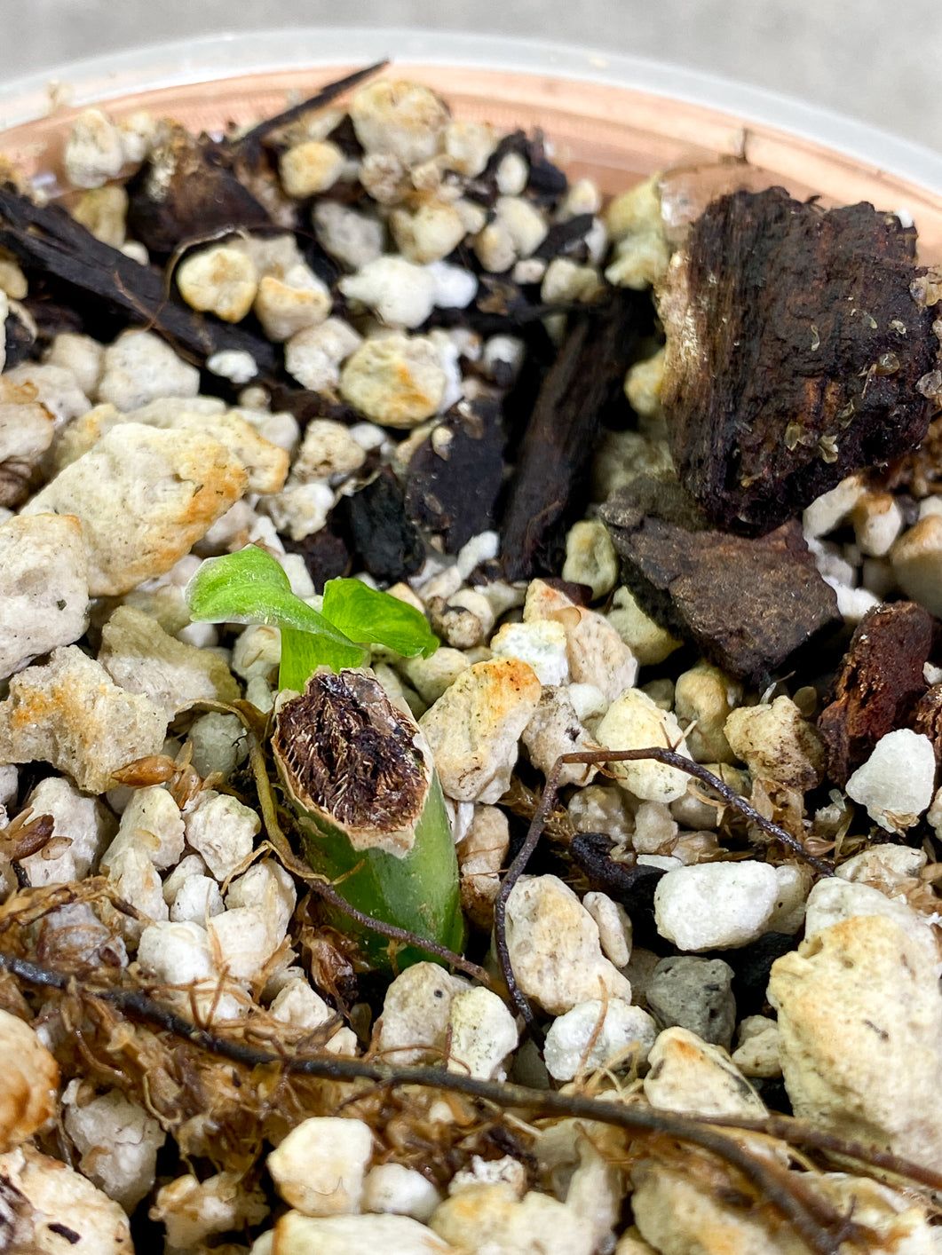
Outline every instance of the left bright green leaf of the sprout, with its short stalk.
[(281, 688), (303, 690), (304, 681), (320, 665), (339, 670), (362, 666), (369, 659), (362, 645), (291, 592), (285, 572), (257, 545), (202, 562), (186, 586), (186, 600), (192, 617), (203, 622), (280, 628)]

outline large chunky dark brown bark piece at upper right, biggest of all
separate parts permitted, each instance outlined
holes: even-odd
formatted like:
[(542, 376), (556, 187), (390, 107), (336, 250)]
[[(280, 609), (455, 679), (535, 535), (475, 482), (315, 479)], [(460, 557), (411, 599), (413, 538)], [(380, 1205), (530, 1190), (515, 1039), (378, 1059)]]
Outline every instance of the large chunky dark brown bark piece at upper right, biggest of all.
[(911, 292), (916, 232), (870, 205), (735, 192), (692, 225), (659, 292), (677, 473), (711, 521), (772, 531), (926, 434), (938, 340)]

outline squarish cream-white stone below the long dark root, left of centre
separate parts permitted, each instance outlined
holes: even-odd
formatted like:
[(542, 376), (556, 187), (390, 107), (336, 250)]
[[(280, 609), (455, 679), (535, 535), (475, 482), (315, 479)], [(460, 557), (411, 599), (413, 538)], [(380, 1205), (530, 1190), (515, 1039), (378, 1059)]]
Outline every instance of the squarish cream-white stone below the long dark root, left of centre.
[(358, 1212), (373, 1135), (362, 1119), (301, 1121), (265, 1161), (275, 1188), (305, 1216)]

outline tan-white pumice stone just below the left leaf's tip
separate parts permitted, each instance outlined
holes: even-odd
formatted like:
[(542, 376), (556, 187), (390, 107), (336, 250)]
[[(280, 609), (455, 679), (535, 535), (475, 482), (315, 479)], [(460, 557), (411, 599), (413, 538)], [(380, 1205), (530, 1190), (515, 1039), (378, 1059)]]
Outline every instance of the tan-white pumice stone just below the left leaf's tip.
[(128, 693), (143, 693), (172, 719), (192, 702), (236, 702), (225, 659), (170, 636), (149, 615), (118, 606), (102, 629), (98, 661)]

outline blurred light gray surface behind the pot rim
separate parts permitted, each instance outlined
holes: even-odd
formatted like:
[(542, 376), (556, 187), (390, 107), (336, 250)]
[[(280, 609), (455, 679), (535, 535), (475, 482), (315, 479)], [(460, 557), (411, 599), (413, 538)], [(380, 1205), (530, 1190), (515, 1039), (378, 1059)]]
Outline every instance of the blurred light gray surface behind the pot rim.
[(942, 152), (942, 0), (0, 0), (0, 79), (190, 35), (318, 24), (506, 34), (673, 61)]

